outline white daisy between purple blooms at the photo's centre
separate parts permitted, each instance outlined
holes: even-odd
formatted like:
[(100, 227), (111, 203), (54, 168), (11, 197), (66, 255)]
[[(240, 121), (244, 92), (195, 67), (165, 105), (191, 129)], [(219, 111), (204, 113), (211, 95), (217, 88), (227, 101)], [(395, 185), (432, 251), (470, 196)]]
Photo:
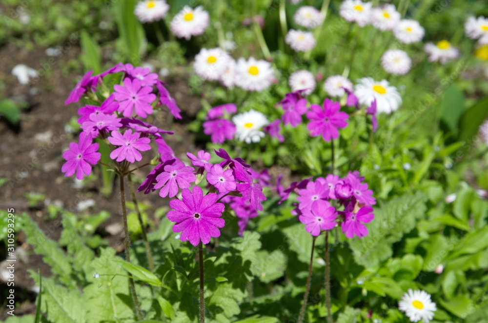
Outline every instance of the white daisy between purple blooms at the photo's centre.
[(264, 137), (261, 129), (268, 124), (268, 120), (261, 112), (250, 110), (232, 117), (236, 125), (236, 139), (246, 143), (259, 142)]

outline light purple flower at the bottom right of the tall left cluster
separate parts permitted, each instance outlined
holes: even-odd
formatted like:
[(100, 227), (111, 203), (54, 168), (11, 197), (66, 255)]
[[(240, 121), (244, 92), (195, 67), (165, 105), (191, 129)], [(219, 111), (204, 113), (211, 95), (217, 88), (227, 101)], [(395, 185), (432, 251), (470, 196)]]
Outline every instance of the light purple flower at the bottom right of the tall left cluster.
[(151, 140), (149, 138), (139, 138), (141, 134), (132, 133), (132, 130), (125, 130), (123, 136), (118, 131), (112, 131), (112, 137), (108, 137), (108, 141), (116, 146), (116, 148), (110, 153), (111, 159), (116, 159), (117, 162), (126, 160), (127, 162), (141, 161), (142, 155), (139, 151), (146, 151), (151, 149), (148, 144)]

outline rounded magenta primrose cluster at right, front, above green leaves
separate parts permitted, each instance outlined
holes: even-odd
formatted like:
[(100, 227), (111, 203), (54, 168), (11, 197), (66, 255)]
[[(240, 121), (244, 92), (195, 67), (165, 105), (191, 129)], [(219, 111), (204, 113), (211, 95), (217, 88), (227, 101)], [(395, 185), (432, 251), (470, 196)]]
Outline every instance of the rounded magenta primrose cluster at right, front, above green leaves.
[[(344, 178), (332, 174), (315, 181), (308, 178), (291, 183), (288, 189), (278, 182), (277, 190), (281, 202), (291, 192), (298, 195), (293, 214), (305, 224), (305, 230), (312, 236), (318, 236), (338, 224), (347, 238), (354, 238), (355, 235), (363, 238), (368, 234), (365, 223), (374, 218), (372, 205), (376, 204), (376, 199), (358, 171), (348, 172)], [(344, 209), (339, 211), (339, 207)]]

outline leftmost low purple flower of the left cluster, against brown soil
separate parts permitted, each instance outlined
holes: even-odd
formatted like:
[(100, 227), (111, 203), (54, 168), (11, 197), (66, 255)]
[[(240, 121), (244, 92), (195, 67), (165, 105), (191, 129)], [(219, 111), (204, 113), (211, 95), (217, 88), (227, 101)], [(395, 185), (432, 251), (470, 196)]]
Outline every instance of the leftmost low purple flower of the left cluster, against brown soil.
[(91, 166), (95, 165), (102, 154), (97, 153), (99, 144), (92, 143), (92, 139), (86, 132), (80, 134), (80, 143), (71, 142), (69, 144), (69, 150), (66, 150), (62, 157), (66, 162), (62, 165), (61, 171), (64, 176), (71, 176), (76, 172), (76, 178), (78, 180), (83, 179), (86, 175), (91, 174)]

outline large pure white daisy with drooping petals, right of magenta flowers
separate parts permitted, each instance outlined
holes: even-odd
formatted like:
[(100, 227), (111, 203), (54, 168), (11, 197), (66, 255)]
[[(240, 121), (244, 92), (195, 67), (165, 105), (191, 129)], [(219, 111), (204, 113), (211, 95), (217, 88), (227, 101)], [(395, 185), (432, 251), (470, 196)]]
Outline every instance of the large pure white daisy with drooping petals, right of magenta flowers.
[(369, 106), (376, 99), (376, 111), (390, 114), (396, 111), (402, 103), (402, 97), (388, 81), (374, 81), (372, 78), (362, 78), (354, 86), (354, 94), (361, 104)]

